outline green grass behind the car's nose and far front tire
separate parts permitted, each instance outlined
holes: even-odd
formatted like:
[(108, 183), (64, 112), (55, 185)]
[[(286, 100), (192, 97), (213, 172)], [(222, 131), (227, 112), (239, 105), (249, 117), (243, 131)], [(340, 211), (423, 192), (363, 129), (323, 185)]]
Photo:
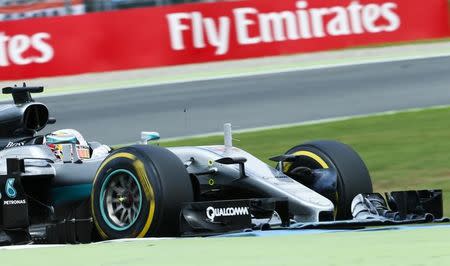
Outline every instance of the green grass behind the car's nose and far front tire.
[[(450, 215), (450, 108), (234, 134), (234, 145), (267, 158), (317, 139), (351, 145), (366, 162), (376, 191), (444, 190)], [(163, 146), (223, 143), (222, 136), (163, 142)]]

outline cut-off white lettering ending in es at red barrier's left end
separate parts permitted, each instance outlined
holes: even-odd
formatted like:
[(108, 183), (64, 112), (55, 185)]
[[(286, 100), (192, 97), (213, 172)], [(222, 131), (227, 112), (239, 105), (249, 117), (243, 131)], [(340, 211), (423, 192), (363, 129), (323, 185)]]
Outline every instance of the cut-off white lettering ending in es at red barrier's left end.
[(0, 68), (10, 65), (43, 64), (52, 60), (51, 36), (46, 32), (8, 36), (0, 32)]

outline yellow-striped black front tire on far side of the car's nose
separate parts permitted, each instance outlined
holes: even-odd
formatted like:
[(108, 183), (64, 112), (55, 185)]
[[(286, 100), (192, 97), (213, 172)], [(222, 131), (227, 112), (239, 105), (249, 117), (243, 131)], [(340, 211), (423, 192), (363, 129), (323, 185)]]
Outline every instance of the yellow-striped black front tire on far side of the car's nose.
[(297, 155), (295, 163), (284, 163), (283, 172), (294, 167), (310, 169), (334, 168), (337, 172), (337, 191), (332, 202), (336, 220), (352, 219), (351, 203), (360, 193), (372, 193), (372, 180), (361, 157), (348, 145), (337, 141), (313, 141), (295, 146), (286, 154)]

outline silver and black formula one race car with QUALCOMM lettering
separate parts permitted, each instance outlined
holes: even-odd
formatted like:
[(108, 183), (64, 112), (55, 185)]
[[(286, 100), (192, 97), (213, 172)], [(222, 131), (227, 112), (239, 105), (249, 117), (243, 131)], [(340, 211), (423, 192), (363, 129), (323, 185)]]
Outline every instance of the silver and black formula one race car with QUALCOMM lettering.
[(373, 193), (361, 158), (336, 141), (298, 145), (273, 168), (232, 146), (111, 149), (55, 123), (31, 93), (0, 106), (0, 243), (86, 243), (246, 229), (361, 226), (442, 218), (439, 190)]

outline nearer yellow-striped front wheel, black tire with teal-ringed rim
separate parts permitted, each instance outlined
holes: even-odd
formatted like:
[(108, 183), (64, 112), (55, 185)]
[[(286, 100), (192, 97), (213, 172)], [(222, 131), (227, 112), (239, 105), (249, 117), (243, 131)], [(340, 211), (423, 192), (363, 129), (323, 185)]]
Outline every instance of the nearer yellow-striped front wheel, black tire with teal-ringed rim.
[(180, 159), (158, 146), (112, 152), (97, 170), (91, 212), (101, 239), (179, 235), (183, 202), (193, 189)]

